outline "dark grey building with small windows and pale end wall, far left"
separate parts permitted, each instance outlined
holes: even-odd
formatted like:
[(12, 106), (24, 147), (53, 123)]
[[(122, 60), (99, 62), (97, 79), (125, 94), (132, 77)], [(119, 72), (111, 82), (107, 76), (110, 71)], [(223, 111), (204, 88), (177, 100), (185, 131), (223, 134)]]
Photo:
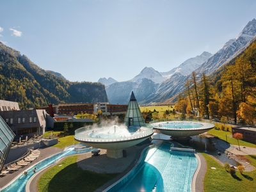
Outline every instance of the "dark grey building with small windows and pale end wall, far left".
[(16, 134), (16, 140), (40, 136), (45, 132), (46, 111), (43, 109), (0, 111), (0, 115)]

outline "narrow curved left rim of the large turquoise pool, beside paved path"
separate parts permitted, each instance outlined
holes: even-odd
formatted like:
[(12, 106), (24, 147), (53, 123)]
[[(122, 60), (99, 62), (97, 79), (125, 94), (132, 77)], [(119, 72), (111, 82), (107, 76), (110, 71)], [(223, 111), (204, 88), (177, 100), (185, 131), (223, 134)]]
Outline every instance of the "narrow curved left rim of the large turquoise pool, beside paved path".
[(111, 184), (110, 186), (108, 186), (107, 188), (103, 189), (102, 192), (108, 192), (111, 188), (115, 187), (117, 184), (119, 184), (120, 182), (122, 182), (122, 180), (124, 180), (128, 175), (131, 174), (132, 170), (134, 170), (134, 168), (138, 167), (143, 159), (144, 153), (149, 150), (150, 148), (156, 147), (156, 144), (150, 145), (148, 147), (145, 147), (141, 153), (140, 153), (140, 158), (138, 159), (138, 161), (136, 162), (136, 164), (134, 164), (134, 166), (131, 167), (131, 169), (125, 173), (125, 175), (123, 175), (120, 179), (116, 180), (113, 184)]

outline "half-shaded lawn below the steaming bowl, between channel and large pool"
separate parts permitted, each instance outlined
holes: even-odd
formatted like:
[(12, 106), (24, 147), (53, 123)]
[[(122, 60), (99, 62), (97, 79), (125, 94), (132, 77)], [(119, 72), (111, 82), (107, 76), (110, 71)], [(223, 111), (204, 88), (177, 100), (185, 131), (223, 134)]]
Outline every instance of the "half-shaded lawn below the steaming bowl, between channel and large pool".
[(82, 170), (77, 167), (76, 161), (77, 156), (67, 157), (47, 170), (38, 180), (38, 191), (95, 191), (95, 189), (116, 177), (116, 174)]

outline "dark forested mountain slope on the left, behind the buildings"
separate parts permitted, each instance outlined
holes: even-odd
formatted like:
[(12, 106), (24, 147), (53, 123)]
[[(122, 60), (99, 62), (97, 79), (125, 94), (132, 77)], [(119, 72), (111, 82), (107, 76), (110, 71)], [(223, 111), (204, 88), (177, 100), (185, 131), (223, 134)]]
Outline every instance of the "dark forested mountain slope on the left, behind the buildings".
[(17, 101), (20, 108), (59, 102), (108, 101), (103, 84), (74, 83), (54, 76), (1, 42), (0, 99)]

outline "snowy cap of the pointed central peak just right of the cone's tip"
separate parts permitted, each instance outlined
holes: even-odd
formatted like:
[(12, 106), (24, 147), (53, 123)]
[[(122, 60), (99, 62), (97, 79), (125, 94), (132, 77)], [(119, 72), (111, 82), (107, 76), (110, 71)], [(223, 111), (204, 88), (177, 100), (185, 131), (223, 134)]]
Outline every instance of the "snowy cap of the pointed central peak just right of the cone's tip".
[(152, 67), (143, 68), (140, 74), (138, 74), (138, 76), (135, 76), (130, 81), (138, 82), (138, 81), (141, 81), (142, 79), (150, 79), (154, 83), (161, 83), (162, 81), (164, 81), (164, 77)]

